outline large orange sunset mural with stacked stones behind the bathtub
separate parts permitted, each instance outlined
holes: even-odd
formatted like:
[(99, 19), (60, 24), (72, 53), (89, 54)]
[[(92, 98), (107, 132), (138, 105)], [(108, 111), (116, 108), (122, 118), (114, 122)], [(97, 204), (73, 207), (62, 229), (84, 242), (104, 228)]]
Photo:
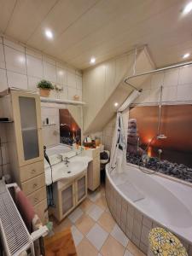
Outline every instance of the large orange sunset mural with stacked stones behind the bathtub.
[[(192, 182), (192, 105), (131, 108), (127, 161)], [(160, 135), (160, 137), (158, 137)]]

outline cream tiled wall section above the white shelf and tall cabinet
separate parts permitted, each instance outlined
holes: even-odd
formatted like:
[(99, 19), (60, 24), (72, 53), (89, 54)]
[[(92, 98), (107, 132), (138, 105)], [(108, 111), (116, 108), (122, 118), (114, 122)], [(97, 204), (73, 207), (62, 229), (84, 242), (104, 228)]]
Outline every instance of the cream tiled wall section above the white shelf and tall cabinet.
[(17, 87), (37, 90), (37, 83), (47, 79), (59, 84), (63, 91), (51, 91), (51, 97), (73, 100), (82, 98), (82, 74), (73, 67), (20, 44), (0, 38), (0, 90)]

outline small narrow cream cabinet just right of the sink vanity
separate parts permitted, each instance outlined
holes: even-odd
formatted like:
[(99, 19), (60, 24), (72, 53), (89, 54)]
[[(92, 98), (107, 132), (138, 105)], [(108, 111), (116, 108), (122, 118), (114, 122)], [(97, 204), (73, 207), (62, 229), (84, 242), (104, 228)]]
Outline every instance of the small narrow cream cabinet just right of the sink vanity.
[(87, 168), (88, 189), (96, 190), (100, 186), (100, 147), (84, 150), (84, 155), (91, 157)]

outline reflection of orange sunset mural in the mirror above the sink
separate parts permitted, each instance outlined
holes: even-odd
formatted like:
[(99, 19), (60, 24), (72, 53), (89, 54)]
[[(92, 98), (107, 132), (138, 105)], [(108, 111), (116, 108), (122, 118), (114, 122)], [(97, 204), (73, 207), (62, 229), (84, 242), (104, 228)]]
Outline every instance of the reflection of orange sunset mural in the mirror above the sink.
[(60, 142), (72, 146), (81, 143), (81, 129), (68, 109), (60, 109)]

